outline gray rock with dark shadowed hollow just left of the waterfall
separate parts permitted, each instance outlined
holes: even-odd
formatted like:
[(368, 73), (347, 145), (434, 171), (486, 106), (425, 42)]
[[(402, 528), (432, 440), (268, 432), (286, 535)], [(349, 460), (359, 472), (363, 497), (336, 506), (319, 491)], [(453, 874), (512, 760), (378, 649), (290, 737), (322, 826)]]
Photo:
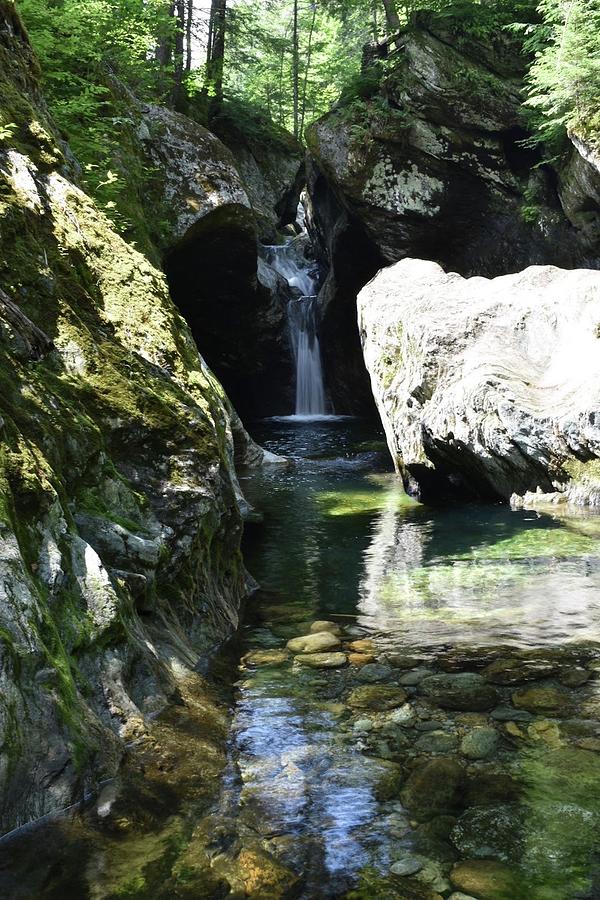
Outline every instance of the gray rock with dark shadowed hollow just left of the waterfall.
[(179, 113), (147, 105), (136, 115), (142, 157), (155, 173), (147, 215), (162, 213), (154, 239), (178, 308), (243, 416), (288, 412), (287, 296), (258, 258), (257, 237), (274, 239), (279, 221), (295, 218), (301, 159), (293, 138), (256, 139), (250, 149), (249, 139), (224, 131), (232, 153)]

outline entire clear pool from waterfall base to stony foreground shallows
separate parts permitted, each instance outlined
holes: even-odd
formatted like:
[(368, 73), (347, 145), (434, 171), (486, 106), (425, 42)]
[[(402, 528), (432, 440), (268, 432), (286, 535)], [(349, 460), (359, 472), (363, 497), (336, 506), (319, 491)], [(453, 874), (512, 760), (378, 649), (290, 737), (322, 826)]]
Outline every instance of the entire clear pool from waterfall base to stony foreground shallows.
[[(290, 462), (242, 478), (226, 758), (174, 707), (168, 752), (0, 852), (4, 895), (600, 897), (600, 517), (421, 505), (360, 420), (253, 436)], [(322, 619), (333, 668), (286, 646)]]

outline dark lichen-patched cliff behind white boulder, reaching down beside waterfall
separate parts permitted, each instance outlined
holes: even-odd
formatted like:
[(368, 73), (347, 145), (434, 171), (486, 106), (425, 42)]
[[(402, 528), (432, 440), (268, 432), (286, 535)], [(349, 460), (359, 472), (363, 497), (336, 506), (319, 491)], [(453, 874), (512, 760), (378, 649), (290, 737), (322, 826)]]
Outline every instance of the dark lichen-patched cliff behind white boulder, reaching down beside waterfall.
[(311, 231), (330, 265), (325, 365), (339, 411), (369, 407), (354, 301), (382, 265), (419, 257), (493, 276), (586, 264), (600, 252), (583, 224), (597, 202), (589, 171), (577, 168), (589, 162), (576, 153), (577, 171), (563, 179), (565, 215), (555, 174), (534, 168), (536, 153), (521, 143), (518, 42), (503, 33), (482, 43), (423, 13), (390, 68), (370, 96), (342, 101), (307, 134)]

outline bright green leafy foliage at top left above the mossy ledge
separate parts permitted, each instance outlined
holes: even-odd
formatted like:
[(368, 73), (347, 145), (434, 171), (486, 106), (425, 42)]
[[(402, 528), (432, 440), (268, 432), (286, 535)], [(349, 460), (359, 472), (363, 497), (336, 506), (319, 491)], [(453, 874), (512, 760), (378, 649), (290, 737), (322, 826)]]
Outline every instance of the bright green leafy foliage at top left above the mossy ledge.
[(154, 53), (173, 28), (168, 9), (162, 0), (20, 0), (19, 9), (41, 63), (44, 95), (85, 186), (117, 229), (132, 236), (132, 195), (144, 173), (127, 155), (135, 127), (130, 92), (160, 99), (168, 87)]

